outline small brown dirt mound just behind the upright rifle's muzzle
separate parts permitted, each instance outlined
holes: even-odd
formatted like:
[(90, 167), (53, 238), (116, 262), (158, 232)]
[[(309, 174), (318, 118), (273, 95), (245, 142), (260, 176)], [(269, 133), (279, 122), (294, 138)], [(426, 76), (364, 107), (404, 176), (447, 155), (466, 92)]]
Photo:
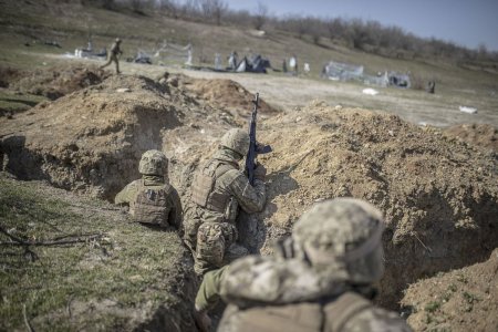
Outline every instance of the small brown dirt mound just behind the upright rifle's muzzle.
[[(236, 111), (241, 116), (247, 116), (252, 110), (253, 95), (242, 85), (230, 80), (193, 80), (186, 87), (197, 97), (208, 101), (210, 104)], [(278, 111), (264, 101), (260, 100), (260, 114), (274, 115)]]

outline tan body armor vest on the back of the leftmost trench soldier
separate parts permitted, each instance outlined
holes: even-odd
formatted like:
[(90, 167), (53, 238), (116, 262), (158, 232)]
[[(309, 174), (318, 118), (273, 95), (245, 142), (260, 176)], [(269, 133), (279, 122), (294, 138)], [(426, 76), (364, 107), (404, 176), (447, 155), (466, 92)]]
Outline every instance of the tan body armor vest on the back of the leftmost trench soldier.
[(167, 205), (167, 197), (173, 187), (165, 184), (162, 188), (152, 188), (141, 180), (138, 191), (131, 208), (135, 221), (166, 226), (172, 207)]

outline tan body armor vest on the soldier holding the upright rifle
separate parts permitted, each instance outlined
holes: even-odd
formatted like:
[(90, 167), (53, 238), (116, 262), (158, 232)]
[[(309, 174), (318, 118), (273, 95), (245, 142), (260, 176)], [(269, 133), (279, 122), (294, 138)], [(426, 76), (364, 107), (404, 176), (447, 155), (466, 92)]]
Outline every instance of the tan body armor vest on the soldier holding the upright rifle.
[(216, 181), (230, 169), (236, 168), (228, 162), (218, 159), (209, 162), (194, 178), (191, 200), (200, 207), (225, 214), (231, 195), (224, 188), (217, 188)]

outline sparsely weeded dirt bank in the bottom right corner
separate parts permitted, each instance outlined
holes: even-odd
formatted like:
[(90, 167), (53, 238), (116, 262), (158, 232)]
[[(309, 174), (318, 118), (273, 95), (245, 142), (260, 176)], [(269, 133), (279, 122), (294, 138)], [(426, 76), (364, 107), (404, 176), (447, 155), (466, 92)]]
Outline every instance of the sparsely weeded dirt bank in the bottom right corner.
[(415, 331), (496, 331), (497, 284), (498, 249), (486, 262), (412, 284), (402, 304)]

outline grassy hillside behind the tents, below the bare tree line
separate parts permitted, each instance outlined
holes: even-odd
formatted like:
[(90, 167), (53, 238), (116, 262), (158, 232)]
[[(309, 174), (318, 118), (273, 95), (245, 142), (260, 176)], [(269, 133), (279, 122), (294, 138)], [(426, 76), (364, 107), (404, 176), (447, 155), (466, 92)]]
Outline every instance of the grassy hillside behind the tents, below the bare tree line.
[[(225, 59), (236, 50), (239, 55), (260, 53), (268, 56), (274, 68), (280, 69), (283, 59), (297, 54), (301, 68), (304, 62), (310, 63), (311, 76), (314, 77), (319, 76), (324, 63), (334, 60), (362, 64), (370, 74), (393, 70), (411, 72), (423, 81), (434, 79), (448, 86), (477, 84), (497, 89), (496, 75), (464, 70), (447, 60), (387, 59), (352, 51), (323, 38), (320, 45), (317, 45), (307, 37), (299, 39), (284, 31), (267, 31), (266, 34), (259, 35), (255, 31), (238, 27), (186, 22), (156, 13), (144, 15), (129, 10), (117, 12), (75, 3), (41, 3), (43, 4), (38, 1), (1, 1), (1, 64), (28, 68), (40, 65), (40, 61), (32, 61), (29, 54), (73, 53), (75, 48), (86, 46), (91, 34), (95, 49), (108, 48), (114, 38), (122, 38), (125, 58), (135, 56), (137, 50), (152, 53), (164, 41), (179, 45), (190, 42), (194, 45), (196, 64), (200, 64), (199, 60), (203, 58), (212, 65), (215, 53), (220, 53)], [(45, 41), (56, 41), (62, 48), (45, 45)], [(25, 46), (25, 43), (31, 46)], [(160, 61), (172, 64), (181, 63), (184, 60), (169, 58)]]

